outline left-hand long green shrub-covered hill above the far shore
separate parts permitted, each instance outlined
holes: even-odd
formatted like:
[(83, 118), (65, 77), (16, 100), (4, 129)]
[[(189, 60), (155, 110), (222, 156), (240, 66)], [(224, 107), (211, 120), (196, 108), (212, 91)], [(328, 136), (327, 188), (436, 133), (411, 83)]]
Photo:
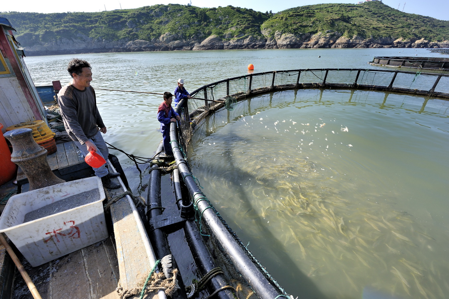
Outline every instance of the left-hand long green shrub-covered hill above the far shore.
[(199, 8), (180, 4), (157, 4), (138, 9), (120, 9), (98, 13), (1, 13), (18, 31), (24, 46), (59, 38), (106, 40), (152, 40), (165, 33), (180, 39), (218, 36), (260, 35), (260, 25), (268, 13), (227, 6)]

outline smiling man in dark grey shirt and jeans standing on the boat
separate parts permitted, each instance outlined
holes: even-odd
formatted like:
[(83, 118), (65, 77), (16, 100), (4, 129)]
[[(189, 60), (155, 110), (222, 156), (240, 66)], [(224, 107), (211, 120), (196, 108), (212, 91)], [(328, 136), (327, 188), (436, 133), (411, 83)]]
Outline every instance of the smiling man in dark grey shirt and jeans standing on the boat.
[(110, 173), (107, 169), (109, 150), (101, 136), (101, 133), (106, 134), (106, 126), (98, 112), (95, 91), (90, 86), (92, 81), (90, 64), (75, 58), (69, 62), (67, 71), (73, 80), (59, 91), (57, 101), (64, 127), (84, 156), (93, 151), (105, 158), (105, 165), (92, 168), (95, 175), (101, 178), (103, 186), (117, 189), (120, 184), (111, 181), (110, 178), (120, 174)]

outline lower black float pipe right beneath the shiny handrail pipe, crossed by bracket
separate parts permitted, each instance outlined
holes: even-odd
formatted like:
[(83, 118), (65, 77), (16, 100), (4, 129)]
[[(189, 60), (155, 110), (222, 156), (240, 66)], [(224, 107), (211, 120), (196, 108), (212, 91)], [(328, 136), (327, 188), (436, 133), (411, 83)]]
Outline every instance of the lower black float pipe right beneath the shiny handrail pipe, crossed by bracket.
[[(181, 210), (182, 205), (184, 204), (184, 199), (181, 195), (181, 186), (180, 186), (179, 172), (178, 170), (173, 171), (173, 185), (175, 187), (176, 194), (176, 202), (178, 204), (178, 208)], [(183, 204), (181, 204), (181, 200)], [(191, 201), (190, 201), (191, 203)], [(216, 268), (215, 260), (212, 259), (211, 253), (207, 249), (206, 244), (204, 244), (204, 240), (201, 237), (200, 232), (198, 231), (198, 227), (194, 220), (187, 219), (184, 224), (184, 233), (187, 242), (189, 243), (190, 251), (192, 252), (192, 256), (195, 259), (195, 263), (197, 264), (199, 270), (202, 272), (202, 275), (206, 275), (213, 268)], [(211, 292), (218, 290), (224, 286), (228, 286), (228, 283), (223, 274), (217, 274), (211, 279)], [(216, 294), (216, 296), (220, 299), (233, 299), (234, 296), (231, 290), (225, 289), (221, 290)]]

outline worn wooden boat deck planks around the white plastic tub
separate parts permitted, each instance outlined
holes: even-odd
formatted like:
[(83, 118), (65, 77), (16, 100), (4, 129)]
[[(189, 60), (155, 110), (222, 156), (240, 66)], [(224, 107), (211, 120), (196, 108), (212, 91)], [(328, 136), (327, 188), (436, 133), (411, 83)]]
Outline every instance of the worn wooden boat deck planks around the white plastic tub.
[[(66, 181), (93, 174), (92, 168), (84, 162), (84, 156), (73, 142), (57, 144), (57, 152), (48, 155), (47, 159), (53, 172)], [(114, 170), (112, 164), (109, 167)], [(119, 180), (122, 188), (105, 189), (106, 199), (126, 191), (123, 181), (115, 179)], [(28, 190), (26, 176), (20, 169), (17, 182), (22, 187), (22, 192)], [(147, 277), (154, 266), (154, 253), (129, 195), (111, 205), (110, 213), (106, 214), (106, 222), (112, 223), (108, 227), (110, 237), (107, 239), (38, 267), (31, 267), (15, 250), (43, 299), (119, 299), (116, 291), (119, 285), (124, 290), (129, 290), (136, 287), (142, 277)], [(7, 285), (2, 286), (0, 299), (33, 298), (13, 262), (1, 247), (0, 260), (4, 260), (0, 282), (3, 281), (1, 275), (8, 277), (8, 271), (14, 271), (14, 275), (10, 273), (14, 277), (12, 290), (8, 291)], [(144, 298), (165, 298), (160, 292), (151, 293)], [(11, 297), (8, 293), (12, 293)]]

